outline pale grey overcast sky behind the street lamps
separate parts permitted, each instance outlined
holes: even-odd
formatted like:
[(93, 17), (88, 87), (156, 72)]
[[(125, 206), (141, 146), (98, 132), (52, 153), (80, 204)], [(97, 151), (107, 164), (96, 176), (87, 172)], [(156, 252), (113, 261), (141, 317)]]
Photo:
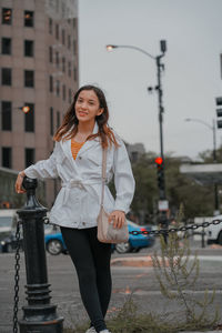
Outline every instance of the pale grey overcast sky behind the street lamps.
[[(95, 83), (105, 92), (110, 125), (129, 143), (142, 142), (160, 152), (154, 60), (130, 49), (105, 50), (105, 44), (128, 44), (163, 58), (164, 152), (195, 158), (213, 147), (215, 97), (222, 95), (221, 0), (79, 0), (80, 84)], [(218, 145), (222, 129), (216, 131)]]

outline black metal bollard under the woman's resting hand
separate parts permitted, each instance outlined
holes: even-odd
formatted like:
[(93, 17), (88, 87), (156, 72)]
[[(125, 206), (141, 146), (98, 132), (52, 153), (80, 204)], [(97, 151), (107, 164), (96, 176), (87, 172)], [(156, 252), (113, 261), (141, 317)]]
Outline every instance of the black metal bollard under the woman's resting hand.
[(50, 304), (43, 231), (47, 209), (36, 199), (36, 179), (26, 176), (22, 185), (27, 190), (27, 202), (18, 214), (23, 228), (28, 305), (22, 306), (20, 333), (61, 333), (63, 317), (57, 315), (57, 305)]

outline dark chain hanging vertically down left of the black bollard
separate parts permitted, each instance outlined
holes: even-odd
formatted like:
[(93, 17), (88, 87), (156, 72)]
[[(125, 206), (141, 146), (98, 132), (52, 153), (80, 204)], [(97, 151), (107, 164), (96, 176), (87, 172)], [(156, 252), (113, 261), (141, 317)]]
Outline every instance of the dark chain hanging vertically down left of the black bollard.
[(14, 254), (14, 306), (13, 306), (13, 333), (18, 333), (18, 310), (19, 310), (19, 270), (20, 270), (20, 223), (17, 222), (16, 231), (16, 254)]

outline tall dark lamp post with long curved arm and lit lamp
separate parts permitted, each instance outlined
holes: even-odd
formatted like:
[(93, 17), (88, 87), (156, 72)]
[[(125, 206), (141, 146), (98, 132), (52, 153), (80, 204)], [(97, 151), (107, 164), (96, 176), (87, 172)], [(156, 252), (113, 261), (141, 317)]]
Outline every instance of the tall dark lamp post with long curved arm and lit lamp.
[[(113, 44), (107, 46), (108, 51), (112, 51), (113, 49), (118, 49), (118, 48), (133, 49), (135, 51), (139, 51), (139, 52), (145, 54), (147, 57), (149, 57), (155, 61), (158, 84), (154, 87), (154, 89), (152, 87), (149, 87), (148, 91), (152, 92), (153, 90), (155, 90), (158, 92), (159, 124), (160, 124), (160, 155), (162, 159), (162, 171), (161, 171), (162, 172), (162, 185), (161, 185), (161, 188), (159, 186), (159, 198), (160, 198), (159, 211), (160, 211), (160, 223), (162, 225), (167, 226), (168, 225), (168, 219), (167, 219), (168, 201), (167, 201), (167, 196), (165, 196), (164, 153), (163, 153), (163, 112), (164, 112), (164, 108), (163, 108), (163, 90), (162, 90), (162, 81), (161, 81), (161, 79), (162, 79), (161, 74), (162, 74), (162, 71), (164, 70), (164, 65), (161, 62), (161, 60), (167, 52), (167, 41), (165, 40), (160, 41), (161, 54), (155, 56), (155, 57), (150, 54), (149, 52), (144, 51), (143, 49), (140, 49), (134, 46), (113, 46)], [(163, 206), (163, 205), (164, 205), (164, 209), (162, 210), (161, 206)]]

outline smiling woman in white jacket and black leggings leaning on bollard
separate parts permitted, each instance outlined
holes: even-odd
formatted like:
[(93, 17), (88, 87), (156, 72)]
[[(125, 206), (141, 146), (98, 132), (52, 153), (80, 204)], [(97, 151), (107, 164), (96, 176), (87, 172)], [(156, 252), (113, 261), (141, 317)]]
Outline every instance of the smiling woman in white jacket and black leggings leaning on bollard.
[(108, 127), (109, 110), (103, 92), (80, 88), (54, 134), (48, 160), (19, 172), (16, 191), (24, 193), (23, 176), (57, 178), (62, 188), (50, 213), (60, 225), (77, 270), (80, 294), (91, 320), (85, 333), (110, 333), (104, 316), (111, 296), (111, 244), (97, 239), (102, 185), (102, 149), (107, 149), (107, 182), (114, 174), (115, 200), (105, 185), (104, 209), (109, 222), (122, 228), (134, 193), (134, 179), (123, 141)]

